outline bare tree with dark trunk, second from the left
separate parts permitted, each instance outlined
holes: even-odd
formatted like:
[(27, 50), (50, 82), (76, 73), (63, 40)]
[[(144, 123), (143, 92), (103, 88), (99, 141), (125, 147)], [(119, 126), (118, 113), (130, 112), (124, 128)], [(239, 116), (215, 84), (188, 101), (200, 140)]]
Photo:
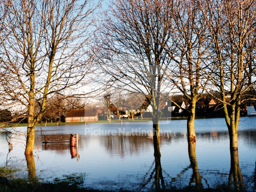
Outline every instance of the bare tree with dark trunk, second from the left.
[(170, 62), (164, 46), (170, 38), (171, 4), (163, 0), (116, 0), (112, 5), (102, 27), (106, 35), (103, 70), (110, 76), (110, 86), (121, 84), (124, 90), (151, 99), (153, 132), (158, 137), (159, 96), (164, 88), (163, 71)]

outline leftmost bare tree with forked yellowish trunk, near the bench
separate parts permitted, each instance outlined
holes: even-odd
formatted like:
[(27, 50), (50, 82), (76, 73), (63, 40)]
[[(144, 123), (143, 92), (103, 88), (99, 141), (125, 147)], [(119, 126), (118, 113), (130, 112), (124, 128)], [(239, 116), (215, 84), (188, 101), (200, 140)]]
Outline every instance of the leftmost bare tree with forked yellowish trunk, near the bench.
[(7, 17), (1, 20), (0, 61), (9, 74), (2, 86), (27, 108), (26, 154), (33, 152), (35, 126), (47, 110), (48, 95), (78, 89), (91, 70), (97, 7), (90, 0), (1, 2), (0, 12), (7, 10)]

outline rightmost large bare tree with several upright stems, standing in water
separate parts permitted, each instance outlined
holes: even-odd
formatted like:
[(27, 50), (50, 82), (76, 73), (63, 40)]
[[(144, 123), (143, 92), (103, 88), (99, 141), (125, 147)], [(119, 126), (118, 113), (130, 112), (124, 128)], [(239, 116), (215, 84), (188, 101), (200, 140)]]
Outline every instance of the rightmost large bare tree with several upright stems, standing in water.
[[(254, 63), (255, 60), (256, 4), (252, 0), (201, 1), (200, 8), (213, 40), (210, 59), (205, 61), (204, 66), (205, 78), (209, 81), (206, 90), (219, 91), (230, 148), (237, 150), (240, 106), (243, 102), (241, 95), (255, 85), (252, 75), (256, 68), (251, 61)], [(211, 94), (210, 91), (208, 93)], [(230, 101), (227, 100), (227, 93)]]

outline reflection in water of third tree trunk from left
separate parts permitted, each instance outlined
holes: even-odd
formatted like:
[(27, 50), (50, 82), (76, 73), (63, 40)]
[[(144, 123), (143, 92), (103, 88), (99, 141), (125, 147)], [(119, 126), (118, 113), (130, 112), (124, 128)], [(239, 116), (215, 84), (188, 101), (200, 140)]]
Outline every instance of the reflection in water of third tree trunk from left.
[(193, 169), (193, 174), (190, 178), (189, 185), (196, 183), (196, 186), (202, 188), (202, 180), (198, 171), (197, 160), (196, 160), (196, 142), (188, 141), (188, 156), (190, 161), (190, 166)]

